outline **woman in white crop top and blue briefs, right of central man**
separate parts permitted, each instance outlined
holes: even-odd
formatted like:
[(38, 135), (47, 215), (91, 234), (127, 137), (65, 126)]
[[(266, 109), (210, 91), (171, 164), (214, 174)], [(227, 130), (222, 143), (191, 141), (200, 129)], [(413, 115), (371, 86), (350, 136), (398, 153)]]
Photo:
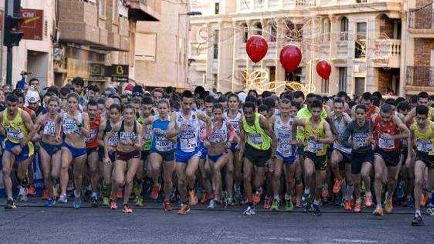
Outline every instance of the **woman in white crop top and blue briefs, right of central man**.
[[(228, 149), (232, 145), (233, 138), (235, 137), (235, 130), (231, 124), (229, 124), (223, 118), (223, 106), (218, 103), (213, 107), (213, 119), (211, 132), (207, 139), (204, 140), (204, 145), (208, 147), (208, 163), (213, 174), (213, 189), (214, 198), (210, 201), (208, 209), (215, 209), (216, 205), (220, 202), (220, 186), (221, 186), (221, 170), (229, 162), (231, 152)], [(233, 171), (232, 167), (227, 167), (226, 171)], [(230, 168), (230, 169), (229, 169)], [(231, 175), (232, 176), (232, 175)], [(226, 191), (228, 192), (227, 198), (232, 199), (232, 186), (233, 178), (229, 178), (229, 182), (226, 181)], [(226, 199), (225, 199), (226, 201)], [(230, 201), (232, 202), (232, 200)]]

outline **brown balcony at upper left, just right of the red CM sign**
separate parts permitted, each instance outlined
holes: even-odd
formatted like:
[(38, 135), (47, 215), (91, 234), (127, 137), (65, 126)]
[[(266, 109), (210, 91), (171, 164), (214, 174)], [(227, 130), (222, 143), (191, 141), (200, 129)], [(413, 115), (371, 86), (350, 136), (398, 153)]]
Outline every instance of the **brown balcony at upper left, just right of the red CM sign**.
[(78, 44), (104, 44), (95, 4), (72, 0), (59, 0), (58, 3), (60, 39)]

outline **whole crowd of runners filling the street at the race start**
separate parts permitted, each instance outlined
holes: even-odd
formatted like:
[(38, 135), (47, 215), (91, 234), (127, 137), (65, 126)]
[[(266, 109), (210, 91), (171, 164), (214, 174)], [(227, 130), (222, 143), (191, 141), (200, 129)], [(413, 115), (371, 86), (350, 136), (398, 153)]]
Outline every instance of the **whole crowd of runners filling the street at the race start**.
[(17, 208), (14, 196), (35, 195), (39, 157), (47, 207), (72, 200), (79, 209), (85, 200), (118, 209), (119, 201), (131, 213), (159, 200), (166, 211), (179, 203), (179, 214), (206, 204), (321, 215), (335, 205), (381, 216), (405, 205), (415, 209), (412, 225), (423, 225), (421, 207), (434, 216), (434, 96), (426, 92), (406, 100), (131, 84), (100, 91), (79, 77), (39, 86), (31, 79), (0, 90), (5, 209)]

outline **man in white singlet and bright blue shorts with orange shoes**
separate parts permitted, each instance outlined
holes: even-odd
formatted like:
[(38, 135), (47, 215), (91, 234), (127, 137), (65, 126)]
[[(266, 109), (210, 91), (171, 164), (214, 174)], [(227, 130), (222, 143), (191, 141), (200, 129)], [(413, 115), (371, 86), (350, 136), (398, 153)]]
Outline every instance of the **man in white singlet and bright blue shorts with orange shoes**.
[[(181, 196), (181, 209), (179, 214), (190, 211), (190, 205), (197, 204), (194, 191), (195, 174), (199, 167), (201, 156), (199, 146), (199, 120), (210, 126), (210, 119), (200, 111), (192, 110), (193, 94), (185, 90), (182, 92), (181, 110), (172, 114), (167, 133), (168, 138), (178, 136), (175, 149), (176, 174), (178, 177), (178, 191)], [(187, 190), (190, 201), (187, 202)]]

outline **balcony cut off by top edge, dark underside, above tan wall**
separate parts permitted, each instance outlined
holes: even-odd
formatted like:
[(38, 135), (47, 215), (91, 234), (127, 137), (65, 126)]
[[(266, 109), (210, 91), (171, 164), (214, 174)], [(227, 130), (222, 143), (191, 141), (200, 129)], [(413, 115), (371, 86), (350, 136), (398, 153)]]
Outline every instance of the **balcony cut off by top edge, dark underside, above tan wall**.
[(159, 21), (161, 0), (128, 0), (128, 18), (133, 21)]

